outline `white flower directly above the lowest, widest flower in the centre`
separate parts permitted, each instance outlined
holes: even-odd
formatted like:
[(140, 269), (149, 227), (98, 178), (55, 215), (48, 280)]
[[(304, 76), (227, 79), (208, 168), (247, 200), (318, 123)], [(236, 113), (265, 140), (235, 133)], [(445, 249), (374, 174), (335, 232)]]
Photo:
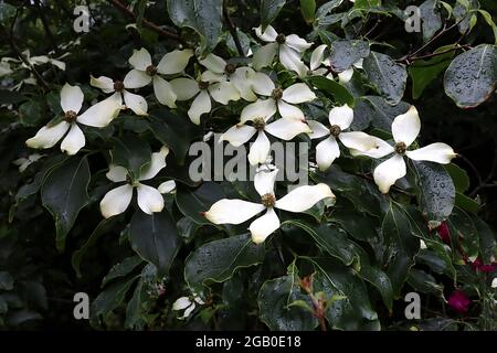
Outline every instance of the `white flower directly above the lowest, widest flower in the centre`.
[(248, 162), (255, 165), (257, 163), (265, 163), (269, 156), (271, 142), (265, 132), (285, 141), (292, 140), (299, 133), (310, 132), (307, 124), (300, 120), (279, 118), (267, 124), (269, 119), (271, 116), (255, 118), (253, 126), (235, 125), (221, 135), (219, 142), (229, 141), (233, 147), (240, 147), (257, 133), (257, 138), (252, 143), (248, 152)]

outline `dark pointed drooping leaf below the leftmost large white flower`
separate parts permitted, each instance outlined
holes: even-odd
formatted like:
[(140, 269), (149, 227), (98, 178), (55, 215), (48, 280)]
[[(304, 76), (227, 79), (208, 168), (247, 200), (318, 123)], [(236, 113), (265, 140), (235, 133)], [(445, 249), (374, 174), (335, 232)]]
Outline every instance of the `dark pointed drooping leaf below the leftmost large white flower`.
[(56, 247), (63, 250), (65, 237), (74, 225), (80, 210), (88, 204), (89, 165), (86, 158), (72, 158), (52, 170), (43, 183), (43, 206), (55, 220)]

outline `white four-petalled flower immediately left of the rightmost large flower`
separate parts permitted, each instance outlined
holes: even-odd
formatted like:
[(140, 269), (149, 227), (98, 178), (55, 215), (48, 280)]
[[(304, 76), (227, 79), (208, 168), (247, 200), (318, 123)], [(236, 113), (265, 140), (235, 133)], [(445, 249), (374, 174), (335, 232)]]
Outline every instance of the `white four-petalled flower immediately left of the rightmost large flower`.
[(348, 129), (353, 120), (353, 110), (348, 105), (335, 107), (329, 113), (329, 125), (327, 128), (316, 120), (307, 120), (310, 129), (311, 139), (318, 139), (327, 136), (325, 140), (316, 146), (316, 162), (319, 170), (327, 170), (331, 163), (340, 157), (340, 147), (337, 139), (343, 143), (345, 147), (358, 151), (368, 151), (374, 147), (374, 140), (362, 131), (342, 132)]

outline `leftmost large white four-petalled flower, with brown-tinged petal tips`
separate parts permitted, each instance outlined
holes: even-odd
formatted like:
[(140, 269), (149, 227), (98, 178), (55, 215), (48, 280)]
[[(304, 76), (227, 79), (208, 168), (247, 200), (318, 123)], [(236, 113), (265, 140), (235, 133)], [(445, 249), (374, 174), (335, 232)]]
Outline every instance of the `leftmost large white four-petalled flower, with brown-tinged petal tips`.
[[(34, 137), (25, 141), (31, 148), (51, 148), (62, 140), (61, 150), (75, 154), (85, 146), (85, 136), (76, 122), (102, 128), (107, 126), (119, 113), (120, 104), (113, 97), (104, 99), (77, 115), (83, 106), (84, 95), (78, 86), (65, 84), (61, 90), (61, 107), (64, 120), (42, 127)], [(66, 135), (66, 132), (68, 133)]]

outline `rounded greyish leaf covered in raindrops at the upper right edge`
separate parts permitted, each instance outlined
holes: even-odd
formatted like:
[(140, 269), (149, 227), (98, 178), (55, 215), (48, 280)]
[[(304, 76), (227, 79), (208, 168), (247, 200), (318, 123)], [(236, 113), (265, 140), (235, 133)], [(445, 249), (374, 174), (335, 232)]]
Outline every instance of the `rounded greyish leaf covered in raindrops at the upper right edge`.
[(497, 47), (478, 45), (457, 55), (445, 72), (445, 93), (461, 108), (473, 108), (490, 97), (497, 84)]

